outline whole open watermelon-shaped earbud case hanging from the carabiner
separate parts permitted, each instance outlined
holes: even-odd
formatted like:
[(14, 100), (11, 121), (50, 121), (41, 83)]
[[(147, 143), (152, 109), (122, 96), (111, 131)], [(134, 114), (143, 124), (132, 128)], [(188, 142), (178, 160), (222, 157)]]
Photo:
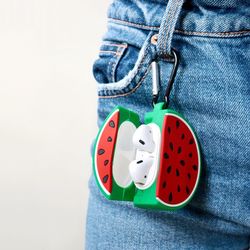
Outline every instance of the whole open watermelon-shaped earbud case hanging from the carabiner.
[[(144, 122), (154, 141), (149, 153), (135, 146), (147, 143), (147, 138), (135, 136), (141, 127), (136, 113), (116, 107), (106, 118), (93, 154), (97, 184), (110, 200), (133, 201), (142, 208), (181, 208), (191, 200), (199, 182), (197, 137), (182, 115), (164, 109), (164, 103), (156, 104)], [(145, 165), (146, 160), (150, 166)], [(145, 178), (143, 181), (133, 176), (137, 170), (142, 173), (138, 178)]]

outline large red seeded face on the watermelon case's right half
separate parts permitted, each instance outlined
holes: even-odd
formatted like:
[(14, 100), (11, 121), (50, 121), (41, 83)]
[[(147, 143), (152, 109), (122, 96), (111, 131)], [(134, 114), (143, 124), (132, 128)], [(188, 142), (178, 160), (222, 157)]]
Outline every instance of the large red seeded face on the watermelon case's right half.
[(164, 117), (160, 159), (156, 197), (165, 205), (181, 206), (197, 186), (200, 154), (192, 129), (178, 115)]

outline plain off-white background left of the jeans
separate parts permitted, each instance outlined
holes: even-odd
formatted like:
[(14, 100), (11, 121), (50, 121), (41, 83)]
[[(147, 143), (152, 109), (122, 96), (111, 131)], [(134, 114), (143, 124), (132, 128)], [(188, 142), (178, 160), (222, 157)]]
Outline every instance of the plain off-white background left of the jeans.
[(1, 250), (84, 248), (108, 4), (0, 0)]

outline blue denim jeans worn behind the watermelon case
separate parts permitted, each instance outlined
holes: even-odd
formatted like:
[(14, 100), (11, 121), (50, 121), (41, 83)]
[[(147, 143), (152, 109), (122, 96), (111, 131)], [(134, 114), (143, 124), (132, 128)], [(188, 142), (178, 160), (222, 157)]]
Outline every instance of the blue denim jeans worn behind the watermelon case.
[(91, 177), (86, 249), (249, 248), (250, 6), (243, 0), (182, 2), (113, 1), (93, 72), (99, 126), (116, 105), (143, 121), (152, 110), (150, 64), (158, 58), (162, 101), (171, 48), (178, 51), (169, 107), (199, 138), (198, 190), (178, 211), (153, 211), (106, 200)]

